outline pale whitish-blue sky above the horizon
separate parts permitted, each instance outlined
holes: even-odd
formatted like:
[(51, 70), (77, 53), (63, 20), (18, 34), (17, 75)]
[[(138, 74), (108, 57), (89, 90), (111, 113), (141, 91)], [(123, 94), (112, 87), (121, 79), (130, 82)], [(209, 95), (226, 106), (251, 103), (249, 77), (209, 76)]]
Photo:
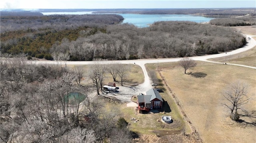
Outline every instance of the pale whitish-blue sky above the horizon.
[(256, 8), (256, 0), (0, 0), (0, 9)]

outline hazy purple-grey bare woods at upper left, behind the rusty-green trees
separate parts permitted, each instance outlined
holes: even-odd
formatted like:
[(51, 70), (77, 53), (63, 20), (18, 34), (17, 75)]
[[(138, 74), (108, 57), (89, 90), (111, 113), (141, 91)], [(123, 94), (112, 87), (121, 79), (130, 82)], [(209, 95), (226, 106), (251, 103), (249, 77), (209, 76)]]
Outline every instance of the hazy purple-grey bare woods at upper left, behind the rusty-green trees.
[[(76, 29), (77, 27), (99, 27), (118, 23), (124, 18), (116, 14), (49, 15), (49, 16), (1, 16), (1, 33), (26, 31), (28, 29)], [(2, 35), (1, 35), (2, 38)]]

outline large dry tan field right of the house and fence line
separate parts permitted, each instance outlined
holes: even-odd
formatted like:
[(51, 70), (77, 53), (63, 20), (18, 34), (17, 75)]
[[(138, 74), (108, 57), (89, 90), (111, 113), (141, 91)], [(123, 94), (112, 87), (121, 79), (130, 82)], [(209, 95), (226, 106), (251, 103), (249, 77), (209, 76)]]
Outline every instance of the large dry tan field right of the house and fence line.
[[(184, 74), (177, 63), (160, 63), (159, 69), (182, 109), (198, 129), (203, 142), (255, 142), (255, 125), (231, 121), (221, 104), (221, 92), (236, 80), (246, 82), (248, 96), (252, 100), (244, 107), (247, 110), (256, 110), (256, 70), (199, 61), (197, 63), (190, 71), (202, 73), (202, 78)], [(255, 122), (255, 118), (241, 119), (249, 123)]]

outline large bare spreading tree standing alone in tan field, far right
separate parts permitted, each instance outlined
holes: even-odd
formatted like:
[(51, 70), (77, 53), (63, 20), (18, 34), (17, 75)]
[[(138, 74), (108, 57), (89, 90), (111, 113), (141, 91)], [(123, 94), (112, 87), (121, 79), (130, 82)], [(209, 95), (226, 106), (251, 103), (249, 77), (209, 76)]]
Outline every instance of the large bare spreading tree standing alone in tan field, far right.
[(239, 119), (238, 110), (242, 110), (241, 106), (248, 103), (247, 86), (245, 83), (236, 81), (230, 84), (223, 91), (223, 105), (230, 110), (230, 118), (232, 120)]

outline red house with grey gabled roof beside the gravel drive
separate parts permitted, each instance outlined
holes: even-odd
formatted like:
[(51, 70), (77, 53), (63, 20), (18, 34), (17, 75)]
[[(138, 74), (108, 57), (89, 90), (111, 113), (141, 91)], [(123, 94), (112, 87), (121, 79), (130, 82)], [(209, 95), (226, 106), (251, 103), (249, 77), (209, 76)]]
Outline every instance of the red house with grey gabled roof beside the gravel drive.
[(163, 99), (159, 92), (151, 88), (146, 91), (146, 95), (140, 93), (138, 95), (138, 108), (139, 110), (149, 111), (150, 109), (162, 109)]

